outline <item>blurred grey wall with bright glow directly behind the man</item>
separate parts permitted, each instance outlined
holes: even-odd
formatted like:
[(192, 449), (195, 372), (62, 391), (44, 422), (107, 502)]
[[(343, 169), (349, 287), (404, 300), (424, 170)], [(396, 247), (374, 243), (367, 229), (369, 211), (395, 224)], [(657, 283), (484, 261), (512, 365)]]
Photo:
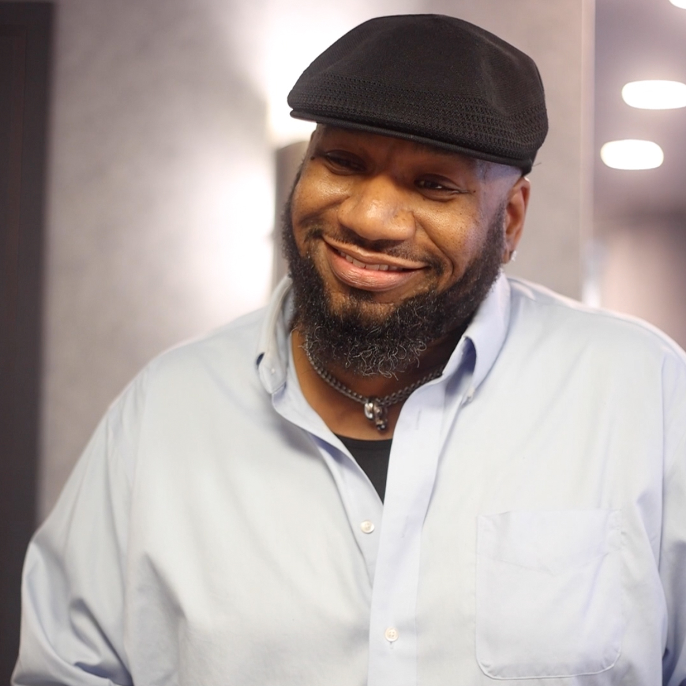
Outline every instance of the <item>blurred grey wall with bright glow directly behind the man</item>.
[(475, 21), (528, 51), (546, 84), (551, 132), (531, 175), (515, 266), (580, 296), (590, 0), (57, 6), (39, 517), (148, 359), (268, 296), (272, 150), (285, 142), (267, 126), (274, 45), (285, 61), (309, 49), (311, 59), (370, 16), (428, 11)]

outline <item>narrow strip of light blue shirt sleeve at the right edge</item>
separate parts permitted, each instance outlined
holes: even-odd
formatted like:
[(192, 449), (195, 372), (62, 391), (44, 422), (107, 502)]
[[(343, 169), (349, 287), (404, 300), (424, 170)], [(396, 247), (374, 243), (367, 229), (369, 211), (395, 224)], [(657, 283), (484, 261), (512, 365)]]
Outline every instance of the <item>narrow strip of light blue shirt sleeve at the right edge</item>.
[(660, 577), (667, 606), (663, 684), (686, 685), (686, 362), (668, 360)]

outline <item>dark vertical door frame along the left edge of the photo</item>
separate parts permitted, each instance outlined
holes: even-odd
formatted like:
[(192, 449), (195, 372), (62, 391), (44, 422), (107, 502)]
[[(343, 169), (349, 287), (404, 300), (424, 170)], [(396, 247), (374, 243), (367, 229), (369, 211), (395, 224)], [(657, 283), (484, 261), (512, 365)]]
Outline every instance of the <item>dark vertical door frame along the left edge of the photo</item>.
[(52, 3), (0, 2), (0, 683), (16, 661), (36, 525), (52, 18)]

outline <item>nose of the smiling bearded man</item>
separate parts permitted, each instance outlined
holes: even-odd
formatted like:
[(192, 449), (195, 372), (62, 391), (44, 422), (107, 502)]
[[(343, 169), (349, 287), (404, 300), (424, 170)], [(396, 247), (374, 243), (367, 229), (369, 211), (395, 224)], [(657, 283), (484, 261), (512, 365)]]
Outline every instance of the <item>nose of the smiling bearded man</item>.
[(385, 174), (359, 180), (338, 206), (338, 221), (368, 241), (403, 241), (415, 230), (406, 194)]

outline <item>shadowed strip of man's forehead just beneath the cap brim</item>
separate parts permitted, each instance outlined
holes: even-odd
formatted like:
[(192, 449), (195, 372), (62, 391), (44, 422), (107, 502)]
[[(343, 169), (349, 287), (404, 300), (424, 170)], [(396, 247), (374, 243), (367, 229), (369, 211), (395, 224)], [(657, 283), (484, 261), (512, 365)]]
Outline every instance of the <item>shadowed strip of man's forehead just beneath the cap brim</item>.
[(465, 171), (473, 171), (479, 176), (488, 164), (459, 152), (445, 150), (437, 145), (397, 138), (392, 134), (383, 135), (327, 124), (318, 124), (312, 142), (314, 145), (327, 147), (329, 145), (341, 146), (357, 154), (394, 156), (407, 163), (431, 161), (449, 167), (458, 167)]

